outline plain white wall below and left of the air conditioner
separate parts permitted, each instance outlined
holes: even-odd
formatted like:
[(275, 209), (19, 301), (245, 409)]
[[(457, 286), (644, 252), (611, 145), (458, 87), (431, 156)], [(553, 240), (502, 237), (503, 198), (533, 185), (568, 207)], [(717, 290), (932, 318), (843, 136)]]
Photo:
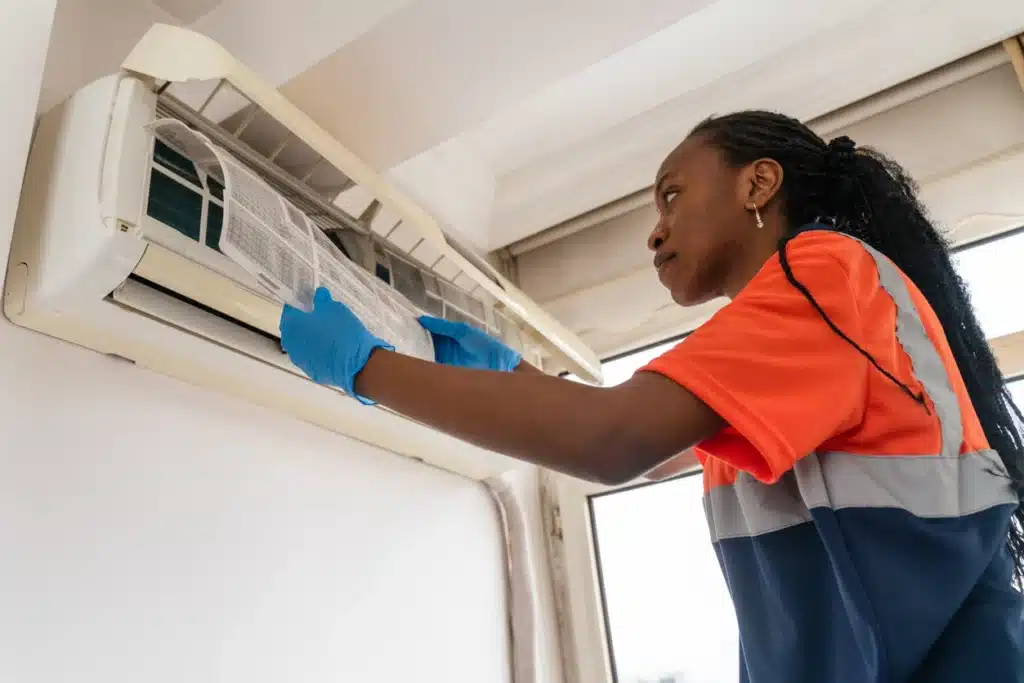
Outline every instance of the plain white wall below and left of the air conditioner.
[[(6, 263), (55, 0), (0, 3)], [(0, 680), (508, 680), (482, 487), (0, 322)]]

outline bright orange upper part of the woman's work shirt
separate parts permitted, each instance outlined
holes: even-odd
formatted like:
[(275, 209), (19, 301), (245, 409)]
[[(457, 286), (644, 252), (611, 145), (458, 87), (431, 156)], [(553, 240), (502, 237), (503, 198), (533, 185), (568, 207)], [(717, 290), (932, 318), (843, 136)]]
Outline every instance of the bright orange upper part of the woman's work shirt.
[[(786, 255), (794, 275), (836, 326), (921, 392), (896, 337), (896, 306), (863, 246), (812, 230), (794, 238)], [(942, 327), (903, 279), (959, 399), (961, 453), (987, 449)], [(786, 280), (777, 254), (732, 302), (643, 371), (686, 387), (728, 423), (696, 449), (706, 490), (732, 483), (738, 471), (773, 483), (816, 451), (914, 456), (940, 449), (930, 400), (926, 410), (836, 334)]]

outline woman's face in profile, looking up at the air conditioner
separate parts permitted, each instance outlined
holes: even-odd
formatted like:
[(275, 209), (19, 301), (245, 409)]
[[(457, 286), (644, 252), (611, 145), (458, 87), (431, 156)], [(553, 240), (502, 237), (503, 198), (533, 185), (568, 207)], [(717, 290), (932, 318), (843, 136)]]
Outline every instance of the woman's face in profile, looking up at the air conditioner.
[(647, 240), (658, 280), (683, 306), (727, 293), (754, 227), (748, 168), (731, 168), (701, 134), (666, 158), (654, 182), (658, 221)]

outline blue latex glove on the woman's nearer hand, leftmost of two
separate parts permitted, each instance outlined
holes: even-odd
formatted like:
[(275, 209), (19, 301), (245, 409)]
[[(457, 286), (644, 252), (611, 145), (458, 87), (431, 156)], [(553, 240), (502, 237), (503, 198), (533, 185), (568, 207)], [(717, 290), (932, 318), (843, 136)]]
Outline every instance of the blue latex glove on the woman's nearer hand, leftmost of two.
[(323, 287), (313, 295), (311, 312), (285, 306), (281, 313), (281, 347), (311, 380), (339, 387), (367, 405), (374, 401), (356, 395), (352, 386), (355, 376), (374, 349), (394, 350), (372, 335), (348, 306), (332, 299)]

